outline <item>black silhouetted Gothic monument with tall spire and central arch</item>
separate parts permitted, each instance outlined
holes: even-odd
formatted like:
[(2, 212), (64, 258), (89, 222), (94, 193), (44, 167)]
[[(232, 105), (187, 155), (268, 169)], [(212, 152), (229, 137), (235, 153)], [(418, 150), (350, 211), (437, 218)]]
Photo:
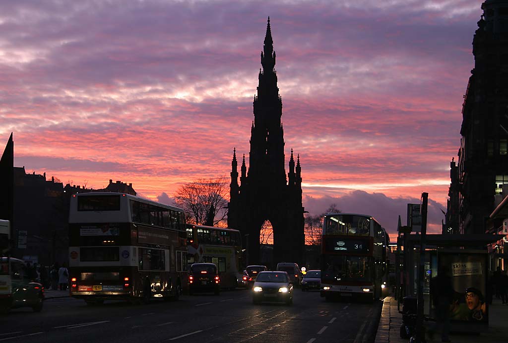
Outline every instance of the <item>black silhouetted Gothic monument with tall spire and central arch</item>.
[(249, 168), (243, 156), (238, 185), (236, 150), (231, 163), (228, 226), (248, 234), (250, 264), (259, 263), (260, 229), (266, 220), (273, 228), (274, 263), (301, 263), (304, 251), (302, 178), (300, 157), (296, 172), (293, 150), (289, 162), (289, 183), (284, 168), (284, 131), (281, 123), (282, 99), (277, 87), (275, 51), (270, 18), (261, 52), (258, 94), (254, 96), (254, 120), (250, 128)]

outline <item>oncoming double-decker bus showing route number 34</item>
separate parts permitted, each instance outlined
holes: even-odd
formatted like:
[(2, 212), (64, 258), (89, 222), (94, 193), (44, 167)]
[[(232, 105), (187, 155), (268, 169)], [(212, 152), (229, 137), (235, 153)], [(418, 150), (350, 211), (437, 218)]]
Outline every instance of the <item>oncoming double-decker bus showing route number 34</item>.
[(386, 230), (371, 216), (327, 214), (323, 221), (321, 296), (378, 299), (388, 293)]

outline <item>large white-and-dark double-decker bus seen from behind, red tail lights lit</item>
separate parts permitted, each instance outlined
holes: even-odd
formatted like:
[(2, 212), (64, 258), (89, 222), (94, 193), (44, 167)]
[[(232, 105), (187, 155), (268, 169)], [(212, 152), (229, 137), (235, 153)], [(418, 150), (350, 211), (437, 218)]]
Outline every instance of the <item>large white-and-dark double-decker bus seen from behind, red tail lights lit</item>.
[(73, 194), (69, 212), (72, 297), (87, 303), (178, 299), (186, 287), (182, 209), (130, 194)]

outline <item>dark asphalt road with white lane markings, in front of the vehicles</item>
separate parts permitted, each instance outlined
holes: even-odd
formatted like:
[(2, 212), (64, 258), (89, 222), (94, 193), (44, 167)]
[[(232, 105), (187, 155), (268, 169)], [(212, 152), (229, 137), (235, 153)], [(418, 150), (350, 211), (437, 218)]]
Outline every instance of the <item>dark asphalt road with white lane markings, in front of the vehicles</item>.
[(249, 290), (238, 289), (220, 296), (182, 296), (177, 302), (154, 300), (138, 306), (106, 302), (90, 307), (69, 297), (56, 298), (46, 300), (43, 311), (40, 316), (20, 309), (2, 318), (0, 339), (305, 343), (313, 338), (315, 343), (360, 343), (373, 339), (380, 303), (325, 302), (319, 292), (298, 290), (293, 306), (254, 305)]

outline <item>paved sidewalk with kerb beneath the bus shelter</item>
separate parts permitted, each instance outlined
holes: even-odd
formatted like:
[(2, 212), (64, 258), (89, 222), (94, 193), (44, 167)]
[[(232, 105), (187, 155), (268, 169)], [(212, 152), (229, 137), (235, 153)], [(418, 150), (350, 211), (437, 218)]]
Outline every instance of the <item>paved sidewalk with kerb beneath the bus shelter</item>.
[[(402, 310), (402, 305), (400, 306)], [(400, 338), (399, 330), (402, 323), (402, 315), (397, 310), (397, 301), (393, 296), (385, 298), (383, 310), (374, 343), (408, 343), (408, 338)], [(494, 299), (489, 307), (489, 330), (478, 334), (451, 333), (450, 339), (454, 343), (506, 343), (508, 342), (508, 305), (501, 300)], [(434, 342), (440, 342), (439, 334), (434, 337)]]

